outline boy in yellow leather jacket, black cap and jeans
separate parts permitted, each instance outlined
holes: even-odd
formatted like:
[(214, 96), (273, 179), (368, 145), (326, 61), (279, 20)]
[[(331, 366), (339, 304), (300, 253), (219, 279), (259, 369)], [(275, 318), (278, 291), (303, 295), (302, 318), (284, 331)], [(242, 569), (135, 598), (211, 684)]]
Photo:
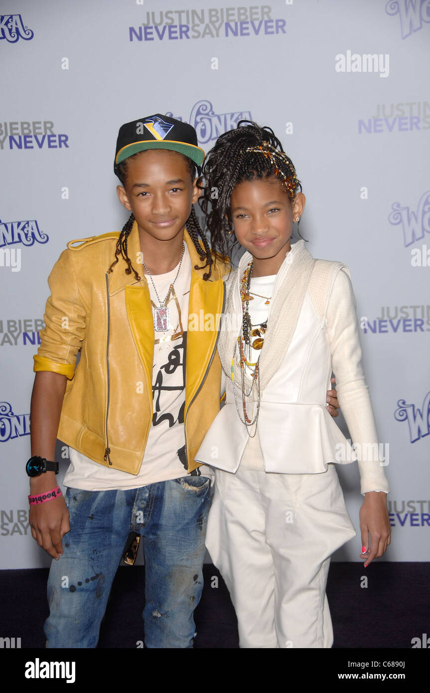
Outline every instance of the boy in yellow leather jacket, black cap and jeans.
[(47, 647), (96, 647), (130, 532), (143, 538), (146, 647), (192, 647), (210, 503), (194, 457), (220, 408), (228, 272), (192, 208), (203, 158), (186, 123), (123, 125), (114, 168), (132, 216), (120, 234), (71, 241), (49, 277), (27, 464), (32, 534), (56, 559)]

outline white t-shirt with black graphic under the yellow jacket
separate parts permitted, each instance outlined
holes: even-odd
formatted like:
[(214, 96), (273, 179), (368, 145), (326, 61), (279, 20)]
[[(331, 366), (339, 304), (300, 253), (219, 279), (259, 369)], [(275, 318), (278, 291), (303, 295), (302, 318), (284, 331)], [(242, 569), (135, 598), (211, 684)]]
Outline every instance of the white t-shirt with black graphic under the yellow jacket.
[[(152, 275), (160, 301), (165, 299), (178, 272), (179, 263), (166, 274)], [(70, 448), (69, 469), (64, 486), (87, 491), (138, 489), (140, 486), (168, 481), (188, 475), (185, 453), (185, 368), (190, 297), (191, 260), (185, 246), (181, 269), (170, 290), (166, 306), (170, 327), (155, 332), (152, 369), (152, 426), (147, 439), (142, 466), (135, 476), (93, 462)], [(152, 310), (160, 306), (150, 277), (147, 277)], [(200, 466), (191, 475), (212, 476), (207, 466)]]

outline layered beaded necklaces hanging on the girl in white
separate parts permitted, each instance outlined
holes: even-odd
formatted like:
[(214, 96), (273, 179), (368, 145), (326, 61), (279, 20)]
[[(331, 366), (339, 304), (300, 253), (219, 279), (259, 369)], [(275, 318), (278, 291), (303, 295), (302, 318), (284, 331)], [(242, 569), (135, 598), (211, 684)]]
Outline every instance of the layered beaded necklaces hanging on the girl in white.
[[(263, 346), (264, 342), (264, 334), (265, 331), (267, 330), (267, 320), (265, 322), (259, 323), (259, 324), (252, 324), (251, 323), (251, 316), (249, 315), (249, 301), (253, 301), (253, 296), (258, 296), (259, 298), (266, 299), (265, 300), (265, 306), (269, 306), (271, 297), (267, 296), (260, 296), (260, 294), (256, 294), (251, 292), (251, 274), (253, 270), (253, 261), (248, 263), (247, 268), (244, 271), (244, 274), (242, 276), (242, 279), (240, 280), (240, 298), (242, 300), (242, 330), (240, 331), (240, 334), (238, 336), (238, 340), (235, 343), (235, 351), (233, 353), (233, 360), (231, 361), (231, 380), (233, 384), (233, 392), (235, 396), (235, 404), (236, 404), (236, 410), (238, 412), (238, 416), (240, 418), (240, 421), (244, 423), (247, 428), (250, 426), (253, 426), (254, 423), (257, 423), (258, 421), (258, 412), (260, 411), (260, 370), (259, 370), (259, 360), (260, 360), (260, 355), (258, 356), (258, 359), (256, 362), (252, 362), (251, 360), (251, 348), (256, 349), (257, 351), (260, 351)], [(256, 337), (256, 339), (251, 342), (252, 337)], [(234, 362), (235, 362), (235, 356), (236, 356), (236, 350), (239, 349), (239, 365), (240, 365), (240, 383), (241, 383), (241, 389), (242, 389), (242, 411), (243, 411), (243, 416), (244, 418), (242, 419), (242, 416), (240, 414), (240, 410), (238, 407), (238, 399), (236, 396), (236, 388), (235, 388), (235, 382), (234, 382)], [(251, 371), (251, 387), (249, 389), (249, 392), (246, 392), (245, 388), (245, 369), (246, 368), (253, 368), (254, 370)], [(247, 397), (251, 397), (251, 401), (254, 402), (254, 388), (256, 387), (256, 413), (253, 414), (252, 419), (249, 418), (248, 413), (247, 413)], [(257, 428), (256, 428), (257, 430)], [(256, 435), (256, 430), (253, 432), (253, 435), (250, 434), (251, 437)]]

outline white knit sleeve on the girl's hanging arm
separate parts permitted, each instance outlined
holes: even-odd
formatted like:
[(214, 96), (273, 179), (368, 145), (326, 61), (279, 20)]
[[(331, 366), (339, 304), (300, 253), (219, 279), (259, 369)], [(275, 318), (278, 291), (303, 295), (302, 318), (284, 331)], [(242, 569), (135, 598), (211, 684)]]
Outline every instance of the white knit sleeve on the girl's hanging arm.
[(326, 313), (326, 326), (337, 397), (348, 426), (361, 477), (361, 493), (384, 491), (388, 481), (380, 464), (379, 441), (368, 387), (361, 366), (359, 323), (349, 270), (337, 272)]

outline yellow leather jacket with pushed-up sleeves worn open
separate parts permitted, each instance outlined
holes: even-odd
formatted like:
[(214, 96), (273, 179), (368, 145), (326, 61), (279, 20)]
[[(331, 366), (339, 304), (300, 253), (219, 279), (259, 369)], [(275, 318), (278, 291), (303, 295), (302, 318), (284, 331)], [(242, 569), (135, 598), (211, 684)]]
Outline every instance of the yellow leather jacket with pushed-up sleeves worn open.
[[(78, 247), (72, 240), (60, 255), (48, 279), (51, 296), (34, 370), (68, 378), (58, 437), (95, 462), (137, 474), (152, 423), (154, 320), (143, 272), (136, 281), (134, 274), (125, 274), (127, 265), (119, 258), (107, 274), (118, 236), (84, 238)], [(187, 231), (184, 240), (192, 267), (201, 265)], [(134, 222), (128, 256), (137, 270), (140, 251)], [(186, 353), (188, 471), (199, 466), (195, 454), (220, 410), (216, 316), (224, 309), (227, 267), (217, 260), (208, 281), (202, 278), (205, 271), (192, 269), (190, 283), (188, 313), (194, 325), (190, 329), (189, 321)], [(205, 315), (213, 319), (205, 321)]]

